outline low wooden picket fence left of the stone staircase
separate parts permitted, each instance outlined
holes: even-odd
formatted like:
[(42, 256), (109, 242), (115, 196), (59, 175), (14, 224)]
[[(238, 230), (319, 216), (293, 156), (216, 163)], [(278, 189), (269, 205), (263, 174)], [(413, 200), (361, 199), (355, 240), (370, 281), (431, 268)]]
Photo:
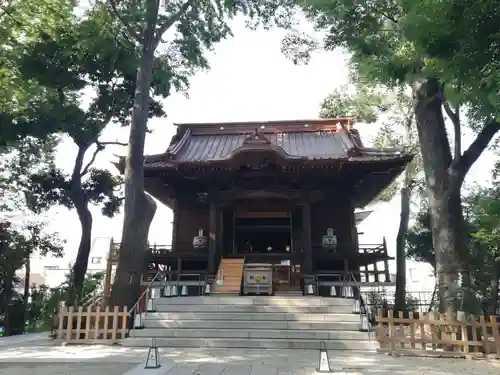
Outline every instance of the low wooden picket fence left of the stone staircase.
[(124, 339), (127, 333), (128, 312), (115, 306), (61, 307), (57, 315), (57, 335), (69, 341), (111, 341)]

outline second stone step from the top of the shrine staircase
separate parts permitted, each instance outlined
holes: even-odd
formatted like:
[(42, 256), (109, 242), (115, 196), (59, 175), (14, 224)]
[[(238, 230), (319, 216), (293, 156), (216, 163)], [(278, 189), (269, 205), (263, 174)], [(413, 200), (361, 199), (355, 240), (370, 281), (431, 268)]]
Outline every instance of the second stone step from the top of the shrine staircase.
[(350, 314), (350, 305), (339, 306), (265, 306), (265, 305), (171, 305), (161, 298), (156, 303), (157, 312), (225, 312), (225, 313), (289, 313), (289, 314)]

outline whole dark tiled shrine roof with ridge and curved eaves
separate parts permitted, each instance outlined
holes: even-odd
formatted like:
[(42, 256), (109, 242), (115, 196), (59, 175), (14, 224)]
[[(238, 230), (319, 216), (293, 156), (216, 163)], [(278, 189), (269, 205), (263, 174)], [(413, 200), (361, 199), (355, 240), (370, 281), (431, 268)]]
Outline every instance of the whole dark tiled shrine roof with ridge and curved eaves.
[(293, 126), (285, 124), (281, 128), (261, 126), (262, 130), (255, 127), (252, 131), (248, 124), (240, 125), (219, 128), (213, 124), (180, 125), (168, 150), (163, 154), (146, 156), (145, 166), (148, 169), (163, 169), (183, 163), (224, 162), (248, 151), (273, 151), (286, 160), (304, 161), (342, 159), (371, 162), (409, 156), (399, 149), (364, 147), (359, 133), (350, 126), (309, 126), (301, 123)]

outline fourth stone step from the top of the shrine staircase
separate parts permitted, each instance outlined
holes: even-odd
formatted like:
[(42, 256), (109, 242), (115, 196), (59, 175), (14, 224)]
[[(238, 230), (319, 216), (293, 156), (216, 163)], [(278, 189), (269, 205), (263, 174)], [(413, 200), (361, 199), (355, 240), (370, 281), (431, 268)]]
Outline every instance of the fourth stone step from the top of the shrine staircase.
[(147, 328), (190, 328), (190, 329), (303, 329), (327, 331), (357, 331), (360, 321), (355, 322), (297, 322), (297, 321), (267, 321), (267, 320), (161, 320), (145, 319)]

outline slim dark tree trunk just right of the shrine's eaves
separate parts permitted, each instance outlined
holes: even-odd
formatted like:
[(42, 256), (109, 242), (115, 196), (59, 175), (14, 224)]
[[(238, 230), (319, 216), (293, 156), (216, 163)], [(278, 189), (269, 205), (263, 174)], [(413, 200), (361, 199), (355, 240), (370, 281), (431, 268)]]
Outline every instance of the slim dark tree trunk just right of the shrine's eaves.
[[(407, 172), (405, 172), (407, 173)], [(394, 308), (404, 310), (406, 308), (406, 233), (410, 222), (410, 199), (411, 190), (405, 178), (405, 186), (401, 188), (401, 216), (396, 239), (396, 295)]]

